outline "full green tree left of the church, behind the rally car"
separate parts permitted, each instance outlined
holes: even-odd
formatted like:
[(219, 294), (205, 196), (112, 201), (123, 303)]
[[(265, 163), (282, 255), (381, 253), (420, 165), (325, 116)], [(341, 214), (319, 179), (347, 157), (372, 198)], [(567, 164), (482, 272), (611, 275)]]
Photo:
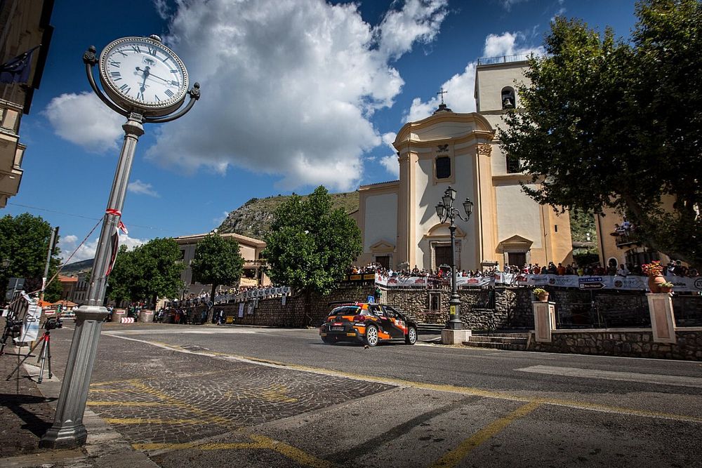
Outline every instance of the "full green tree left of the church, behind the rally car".
[(329, 293), (362, 253), (361, 232), (344, 210), (333, 210), (323, 187), (303, 199), (293, 195), (277, 208), (263, 256), (270, 279), (305, 294)]

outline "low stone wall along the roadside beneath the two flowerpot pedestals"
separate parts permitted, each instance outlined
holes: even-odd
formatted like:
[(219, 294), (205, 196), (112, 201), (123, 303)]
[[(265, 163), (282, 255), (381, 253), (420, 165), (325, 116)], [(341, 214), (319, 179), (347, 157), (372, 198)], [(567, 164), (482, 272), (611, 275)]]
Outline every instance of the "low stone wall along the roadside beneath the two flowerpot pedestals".
[(702, 328), (683, 328), (677, 343), (654, 343), (651, 329), (554, 330), (550, 343), (529, 337), (528, 351), (702, 361)]

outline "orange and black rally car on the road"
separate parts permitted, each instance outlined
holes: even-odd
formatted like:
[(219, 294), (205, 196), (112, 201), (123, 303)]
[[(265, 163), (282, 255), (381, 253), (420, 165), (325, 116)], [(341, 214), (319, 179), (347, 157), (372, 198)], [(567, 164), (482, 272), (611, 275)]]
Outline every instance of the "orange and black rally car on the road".
[(375, 346), (380, 341), (417, 342), (417, 324), (392, 306), (350, 302), (335, 307), (319, 327), (319, 335), (327, 345), (338, 341), (362, 342)]

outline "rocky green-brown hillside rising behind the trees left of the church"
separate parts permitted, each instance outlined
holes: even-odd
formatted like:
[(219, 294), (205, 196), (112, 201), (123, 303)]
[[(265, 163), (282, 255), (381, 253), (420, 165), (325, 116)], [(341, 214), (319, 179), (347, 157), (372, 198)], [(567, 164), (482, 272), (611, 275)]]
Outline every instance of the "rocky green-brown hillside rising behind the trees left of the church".
[[(227, 218), (218, 227), (218, 232), (235, 232), (243, 236), (263, 239), (270, 230), (273, 213), (290, 196), (268, 196), (265, 199), (251, 199), (236, 210), (229, 213)], [(303, 196), (303, 199), (307, 196)], [(331, 194), (334, 208), (342, 208), (346, 213), (358, 209), (358, 192)]]

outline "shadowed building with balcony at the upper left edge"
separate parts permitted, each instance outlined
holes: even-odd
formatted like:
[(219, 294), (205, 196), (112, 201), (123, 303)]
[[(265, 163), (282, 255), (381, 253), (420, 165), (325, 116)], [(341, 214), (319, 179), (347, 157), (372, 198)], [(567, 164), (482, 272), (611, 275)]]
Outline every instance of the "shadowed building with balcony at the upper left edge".
[[(29, 114), (34, 90), (44, 73), (53, 34), (49, 24), (53, 0), (0, 1), (0, 63), (6, 64), (27, 51), (26, 76), (0, 83), (0, 208), (15, 196), (22, 182), (22, 158), (27, 147), (20, 142), (22, 114)], [(22, 67), (24, 68), (24, 67)], [(4, 74), (6, 75), (6, 74)]]

